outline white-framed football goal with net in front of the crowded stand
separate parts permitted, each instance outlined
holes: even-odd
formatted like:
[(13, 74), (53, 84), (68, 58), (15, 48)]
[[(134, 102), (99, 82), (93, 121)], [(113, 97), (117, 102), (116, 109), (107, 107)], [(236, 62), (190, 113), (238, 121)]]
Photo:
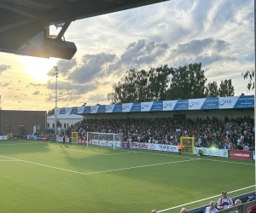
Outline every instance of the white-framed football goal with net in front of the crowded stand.
[[(120, 148), (122, 143), (122, 134), (87, 132), (87, 147), (88, 145), (100, 147)], [(90, 142), (88, 142), (90, 141)]]

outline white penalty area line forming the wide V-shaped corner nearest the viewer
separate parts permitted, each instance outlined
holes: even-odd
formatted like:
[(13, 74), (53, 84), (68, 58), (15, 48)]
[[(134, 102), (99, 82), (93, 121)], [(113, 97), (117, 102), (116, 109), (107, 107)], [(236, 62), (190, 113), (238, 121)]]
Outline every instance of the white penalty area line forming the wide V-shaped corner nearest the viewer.
[[(76, 173), (76, 174), (80, 174), (80, 175), (84, 175), (84, 176), (95, 175), (95, 174), (100, 174), (100, 173), (107, 173), (107, 172), (113, 172), (113, 171), (119, 171), (119, 170), (131, 170), (131, 169), (150, 167), (150, 166), (156, 166), (156, 165), (176, 164), (176, 163), (183, 163), (183, 162), (191, 162), (192, 161), (190, 159), (190, 160), (166, 162), (166, 163), (160, 163), (160, 164), (148, 164), (148, 165), (132, 166), (132, 167), (126, 167), (126, 168), (121, 168), (121, 169), (116, 169), (116, 170), (103, 170), (103, 171), (84, 173), (84, 172), (79, 172), (79, 171), (75, 171), (75, 170), (66, 170), (66, 169), (62, 169), (62, 168), (59, 168), (59, 167), (55, 167), (55, 166), (51, 166), (51, 165), (46, 165), (46, 164), (38, 164), (38, 163), (34, 163), (32, 161), (22, 160), (22, 159), (18, 159), (18, 158), (10, 158), (10, 157), (3, 156), (3, 155), (0, 155), (0, 157), (16, 160), (16, 161), (20, 161), (20, 162), (24, 162), (24, 163), (27, 163), (27, 164), (40, 165), (40, 166), (48, 167), (48, 168), (55, 169), (55, 170), (64, 170), (64, 171), (68, 171), (68, 172), (72, 172), (72, 173)], [(198, 159), (194, 159), (194, 160), (198, 160)]]

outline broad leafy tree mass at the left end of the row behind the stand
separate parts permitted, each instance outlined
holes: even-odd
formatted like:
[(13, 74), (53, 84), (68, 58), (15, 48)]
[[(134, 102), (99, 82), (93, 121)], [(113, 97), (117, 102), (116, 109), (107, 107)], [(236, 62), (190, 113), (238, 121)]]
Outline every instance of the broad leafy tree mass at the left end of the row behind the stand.
[(151, 68), (148, 71), (131, 69), (119, 83), (113, 86), (113, 92), (107, 95), (111, 103), (130, 103), (152, 100), (165, 100), (172, 68), (167, 65)]

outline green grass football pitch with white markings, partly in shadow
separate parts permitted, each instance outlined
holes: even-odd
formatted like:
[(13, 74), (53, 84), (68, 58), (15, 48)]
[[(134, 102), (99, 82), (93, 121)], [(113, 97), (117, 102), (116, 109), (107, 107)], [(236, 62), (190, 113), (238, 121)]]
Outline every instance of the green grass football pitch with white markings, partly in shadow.
[(57, 142), (0, 141), (0, 168), (1, 212), (179, 212), (255, 190), (254, 161)]

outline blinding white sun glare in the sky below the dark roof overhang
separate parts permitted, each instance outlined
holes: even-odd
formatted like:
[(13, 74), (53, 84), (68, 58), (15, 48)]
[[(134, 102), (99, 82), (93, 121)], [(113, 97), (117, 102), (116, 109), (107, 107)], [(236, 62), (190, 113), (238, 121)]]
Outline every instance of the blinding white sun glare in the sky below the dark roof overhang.
[(20, 57), (24, 64), (23, 72), (30, 75), (37, 82), (46, 82), (49, 80), (47, 72), (56, 65), (57, 59), (42, 59), (36, 57)]

